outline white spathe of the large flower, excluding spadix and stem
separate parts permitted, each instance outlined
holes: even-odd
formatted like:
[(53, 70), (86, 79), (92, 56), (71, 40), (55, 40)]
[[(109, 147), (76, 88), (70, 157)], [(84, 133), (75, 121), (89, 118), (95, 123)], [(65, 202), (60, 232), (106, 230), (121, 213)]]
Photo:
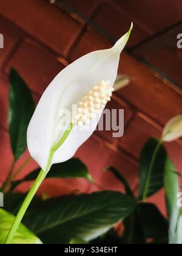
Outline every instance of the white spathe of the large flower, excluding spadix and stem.
[[(33, 159), (45, 169), (50, 149), (62, 137), (58, 129), (62, 109), (72, 110), (100, 80), (115, 82), (121, 51), (129, 40), (130, 32), (120, 38), (111, 49), (91, 52), (64, 68), (44, 91), (27, 130), (27, 145)], [(98, 114), (99, 117), (102, 110)], [(55, 152), (52, 164), (73, 157), (76, 150), (92, 135), (98, 119), (92, 120), (92, 129), (73, 129), (67, 140)], [(88, 127), (86, 127), (88, 128)]]

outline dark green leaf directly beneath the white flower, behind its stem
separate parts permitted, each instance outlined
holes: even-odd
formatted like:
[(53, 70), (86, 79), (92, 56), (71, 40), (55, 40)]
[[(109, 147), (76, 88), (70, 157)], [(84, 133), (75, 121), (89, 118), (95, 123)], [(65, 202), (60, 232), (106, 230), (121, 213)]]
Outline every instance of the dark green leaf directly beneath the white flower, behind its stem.
[[(22, 182), (32, 181), (38, 177), (40, 168), (31, 172), (22, 180), (17, 180), (12, 182), (12, 189), (16, 188)], [(56, 165), (52, 165), (49, 173), (46, 178), (86, 178), (93, 182), (92, 176), (89, 174), (87, 166), (84, 165), (78, 158), (72, 158), (64, 163), (57, 163)]]

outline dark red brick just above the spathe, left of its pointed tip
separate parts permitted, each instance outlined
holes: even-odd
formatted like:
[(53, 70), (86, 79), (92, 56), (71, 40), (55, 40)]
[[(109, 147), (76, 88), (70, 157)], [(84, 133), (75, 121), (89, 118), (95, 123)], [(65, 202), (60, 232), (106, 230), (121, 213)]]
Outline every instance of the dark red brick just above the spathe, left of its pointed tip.
[(69, 59), (73, 61), (89, 52), (110, 47), (112, 47), (112, 43), (110, 43), (107, 38), (90, 27), (87, 27), (83, 35), (79, 38), (78, 43), (72, 49), (72, 52), (70, 52)]

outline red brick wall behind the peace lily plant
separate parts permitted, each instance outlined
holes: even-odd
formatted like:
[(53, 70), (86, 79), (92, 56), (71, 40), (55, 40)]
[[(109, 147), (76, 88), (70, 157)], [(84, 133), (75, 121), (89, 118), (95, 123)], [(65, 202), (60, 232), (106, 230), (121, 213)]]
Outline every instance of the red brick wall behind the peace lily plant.
[[(111, 173), (103, 172), (110, 165), (119, 169), (137, 191), (138, 158), (144, 143), (151, 136), (160, 137), (166, 122), (182, 113), (182, 49), (177, 48), (181, 18), (181, 0), (0, 0), (0, 33), (4, 36), (4, 49), (0, 49), (0, 182), (13, 158), (7, 126), (10, 68), (23, 77), (38, 102), (61, 69), (84, 54), (110, 48), (133, 21), (132, 36), (119, 68), (129, 84), (116, 91), (108, 105), (124, 108), (124, 137), (95, 132), (76, 153), (89, 167), (95, 183), (86, 179), (49, 180), (39, 193), (57, 196), (123, 191)], [(182, 140), (166, 146), (181, 171)], [(30, 162), (19, 178), (35, 166)], [(18, 190), (27, 190), (27, 184)], [(165, 214), (163, 191), (150, 202)]]

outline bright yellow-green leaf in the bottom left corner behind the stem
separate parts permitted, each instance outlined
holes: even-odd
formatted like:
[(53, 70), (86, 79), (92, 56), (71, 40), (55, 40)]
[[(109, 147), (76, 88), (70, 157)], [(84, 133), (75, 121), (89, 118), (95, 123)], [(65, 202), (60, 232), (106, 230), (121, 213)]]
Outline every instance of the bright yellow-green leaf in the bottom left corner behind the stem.
[[(15, 220), (15, 216), (0, 208), (0, 244), (4, 244), (8, 231)], [(13, 244), (42, 244), (41, 240), (36, 237), (29, 229), (20, 224), (13, 238)]]

